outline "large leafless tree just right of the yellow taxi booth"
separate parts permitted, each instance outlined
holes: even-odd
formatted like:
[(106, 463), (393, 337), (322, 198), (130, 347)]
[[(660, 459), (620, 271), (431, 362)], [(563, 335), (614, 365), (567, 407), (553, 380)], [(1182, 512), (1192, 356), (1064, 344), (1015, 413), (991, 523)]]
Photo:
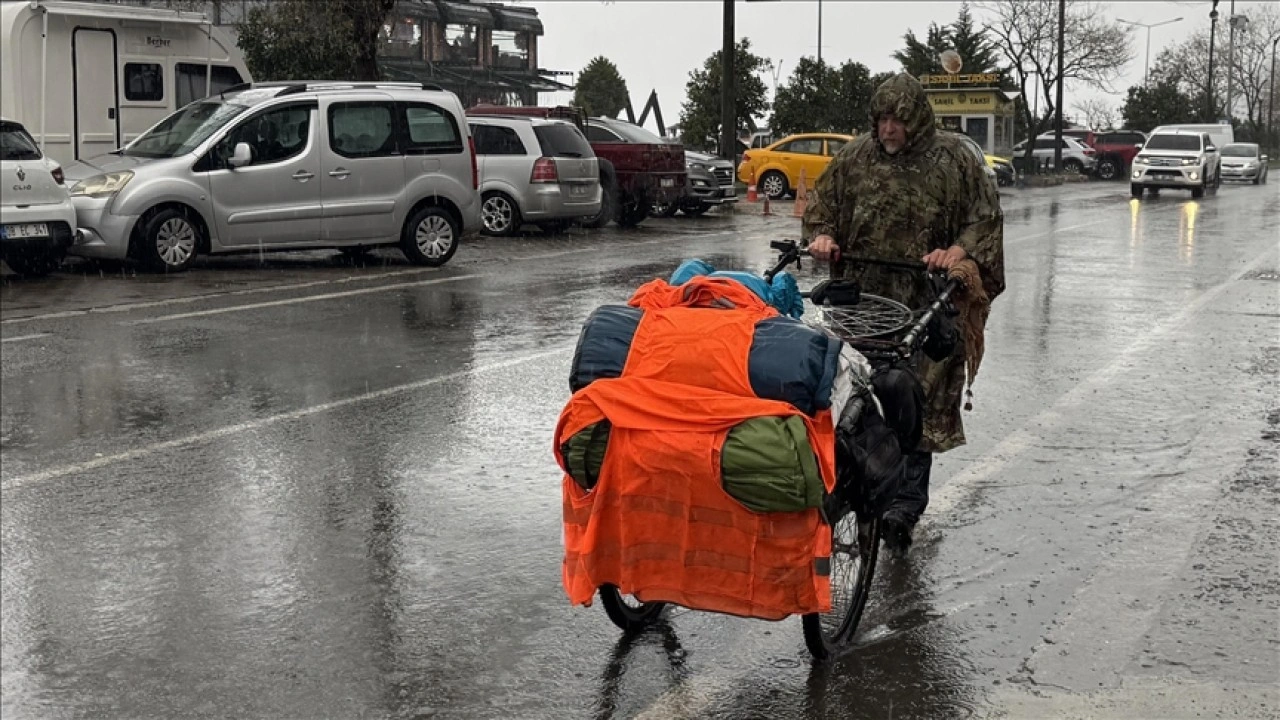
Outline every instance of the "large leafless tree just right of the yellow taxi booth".
[[(1133, 59), (1132, 31), (1106, 18), (1087, 0), (1066, 0), (1066, 41), (1062, 46), (1062, 73), (1057, 72), (1057, 0), (993, 0), (980, 5), (986, 29), (996, 47), (1009, 60), (1010, 73), (1023, 96), (1028, 83), (1044, 92), (1046, 111), (1032, 115), (1021, 102), (1023, 119), (1030, 137), (1044, 132), (1056, 106), (1053, 88), (1059, 81), (1079, 82), (1115, 92), (1112, 82)], [(1027, 143), (1027, 167), (1032, 167), (1034, 143)]]

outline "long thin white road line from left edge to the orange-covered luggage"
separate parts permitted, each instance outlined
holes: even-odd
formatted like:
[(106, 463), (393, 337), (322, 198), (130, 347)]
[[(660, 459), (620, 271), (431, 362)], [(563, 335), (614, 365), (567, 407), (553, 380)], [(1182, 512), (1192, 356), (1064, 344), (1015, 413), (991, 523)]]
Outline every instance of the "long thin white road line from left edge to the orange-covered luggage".
[(421, 380), (415, 380), (411, 383), (398, 384), (393, 387), (387, 387), (383, 389), (375, 389), (372, 392), (366, 392), (362, 395), (356, 395), (352, 397), (346, 397), (343, 400), (334, 400), (332, 402), (323, 402), (320, 405), (311, 405), (308, 407), (300, 407), (297, 410), (291, 410), (288, 413), (280, 413), (276, 415), (269, 415), (266, 418), (259, 418), (256, 420), (247, 420), (244, 423), (236, 423), (234, 425), (224, 425), (221, 428), (215, 428), (211, 430), (205, 430), (201, 433), (192, 433), (189, 436), (166, 439), (164, 442), (156, 442), (151, 445), (145, 445), (142, 447), (136, 447), (133, 450), (127, 450), (124, 452), (116, 452), (115, 455), (105, 455), (102, 457), (95, 457), (92, 460), (86, 460), (83, 462), (72, 462), (69, 465), (59, 465), (56, 468), (50, 468), (47, 470), (41, 470), (38, 473), (32, 473), (29, 475), (19, 475), (15, 478), (9, 478), (8, 480), (0, 482), (0, 491), (13, 491), (24, 486), (44, 483), (56, 478), (63, 478), (67, 475), (76, 475), (79, 473), (87, 473), (90, 470), (97, 470), (100, 468), (106, 468), (109, 465), (115, 465), (118, 462), (127, 462), (129, 460), (137, 460), (138, 457), (145, 457), (147, 455), (154, 455), (156, 452), (163, 452), (165, 450), (173, 450), (177, 447), (184, 447), (188, 445), (196, 445), (201, 442), (209, 442), (237, 433), (243, 433), (248, 430), (256, 430), (266, 425), (273, 425), (275, 423), (300, 420), (302, 418), (308, 418), (311, 415), (317, 415), (320, 413), (328, 413), (330, 410), (339, 410), (349, 405), (357, 405), (360, 402), (367, 402), (370, 400), (380, 400), (384, 397), (390, 397), (394, 395), (403, 395), (406, 392), (413, 392), (431, 386), (438, 386), (440, 383), (448, 383), (466, 378), (468, 375), (483, 375), (485, 373), (492, 373), (494, 370), (504, 370), (507, 368), (513, 368), (516, 365), (522, 365), (525, 363), (532, 363), (535, 360), (543, 360), (545, 357), (553, 357), (556, 355), (567, 355), (572, 352), (572, 347), (561, 347), (557, 350), (547, 350), (543, 352), (535, 352), (532, 355), (525, 355), (522, 357), (512, 357), (511, 360), (502, 360), (499, 363), (492, 363), (489, 365), (480, 365), (467, 370), (458, 370), (454, 373), (448, 373), (445, 375), (436, 375), (434, 378), (425, 378)]

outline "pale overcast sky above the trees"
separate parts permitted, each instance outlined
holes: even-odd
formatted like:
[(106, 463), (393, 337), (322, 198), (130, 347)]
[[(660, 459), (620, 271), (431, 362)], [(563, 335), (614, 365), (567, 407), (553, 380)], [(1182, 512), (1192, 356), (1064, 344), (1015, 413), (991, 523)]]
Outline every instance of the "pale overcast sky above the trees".
[[(1263, 1), (1238, 1), (1236, 13), (1248, 13), (1249, 6)], [(657, 90), (668, 124), (680, 119), (689, 72), (721, 47), (723, 4), (717, 0), (521, 0), (520, 4), (536, 8), (545, 27), (545, 36), (539, 41), (543, 68), (579, 72), (591, 58), (604, 55), (618, 65), (627, 81), (635, 111), (639, 114), (649, 91)], [(1111, 18), (1140, 23), (1183, 17), (1181, 22), (1151, 31), (1152, 59), (1161, 47), (1208, 27), (1212, 8), (1210, 0), (1102, 1), (1097, 5)], [(1219, 5), (1220, 22), (1230, 5), (1230, 0)], [(858, 60), (876, 73), (899, 69), (891, 55), (902, 47), (902, 35), (908, 29), (923, 38), (931, 22), (952, 22), (960, 3), (824, 0), (822, 8), (823, 59), (833, 64)], [(756, 54), (781, 67), (780, 83), (791, 74), (799, 58), (817, 53), (817, 0), (740, 1), (735, 14), (737, 36), (751, 38)], [(982, 10), (975, 6), (974, 14), (980, 20)], [(1098, 96), (1119, 108), (1125, 88), (1142, 82), (1147, 31), (1137, 29), (1134, 40), (1135, 59), (1116, 81), (1116, 95), (1073, 88), (1068, 83), (1065, 104), (1069, 111), (1076, 101)], [(773, 78), (765, 78), (765, 85), (772, 87)], [(549, 94), (543, 101), (567, 102), (571, 97), (570, 94)], [(646, 124), (654, 127), (653, 120)]]

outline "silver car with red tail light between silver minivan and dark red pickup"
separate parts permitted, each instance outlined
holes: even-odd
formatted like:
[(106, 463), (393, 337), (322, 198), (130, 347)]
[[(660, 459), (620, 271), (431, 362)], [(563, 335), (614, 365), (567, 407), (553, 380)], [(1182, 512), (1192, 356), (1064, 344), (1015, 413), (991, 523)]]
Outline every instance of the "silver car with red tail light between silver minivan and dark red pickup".
[(480, 164), (480, 219), (489, 234), (525, 223), (559, 232), (600, 211), (599, 163), (572, 123), (520, 117), (467, 120)]

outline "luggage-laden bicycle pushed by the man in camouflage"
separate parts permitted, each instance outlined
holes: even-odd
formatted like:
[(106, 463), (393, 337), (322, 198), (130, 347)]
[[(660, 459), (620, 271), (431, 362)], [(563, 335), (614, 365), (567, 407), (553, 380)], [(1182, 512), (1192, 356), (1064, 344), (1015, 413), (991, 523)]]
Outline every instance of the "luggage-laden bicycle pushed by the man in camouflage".
[[(773, 268), (764, 273), (765, 281), (795, 264), (800, 268), (801, 249), (795, 241), (773, 241), (769, 243), (780, 252)], [(874, 258), (849, 258), (846, 261), (865, 265), (882, 265), (910, 272), (928, 272), (924, 263), (882, 260)], [(801, 292), (818, 310), (818, 320), (812, 324), (836, 334), (840, 340), (861, 352), (872, 368), (883, 370), (910, 363), (924, 346), (934, 318), (948, 306), (957, 281), (928, 275), (936, 291), (936, 299), (920, 310), (906, 305), (863, 293), (854, 281), (823, 281), (813, 290)], [(905, 331), (905, 332), (904, 332)], [(872, 402), (865, 388), (855, 393), (837, 421), (837, 443), (851, 443), (863, 414)], [(845, 456), (851, 456), (845, 448)], [(840, 454), (837, 452), (837, 457)], [(837, 474), (841, 470), (837, 468)], [(872, 580), (876, 574), (881, 539), (881, 518), (878, 514), (859, 511), (846, 492), (837, 486), (836, 493), (827, 495), (823, 502), (823, 516), (832, 530), (831, 543), (831, 611), (813, 612), (801, 616), (805, 646), (817, 660), (835, 657), (846, 651), (858, 630), (863, 611), (869, 600)], [(623, 632), (640, 632), (657, 623), (666, 602), (639, 602), (631, 596), (623, 596), (620, 589), (604, 584), (599, 589), (600, 602), (609, 619)]]

